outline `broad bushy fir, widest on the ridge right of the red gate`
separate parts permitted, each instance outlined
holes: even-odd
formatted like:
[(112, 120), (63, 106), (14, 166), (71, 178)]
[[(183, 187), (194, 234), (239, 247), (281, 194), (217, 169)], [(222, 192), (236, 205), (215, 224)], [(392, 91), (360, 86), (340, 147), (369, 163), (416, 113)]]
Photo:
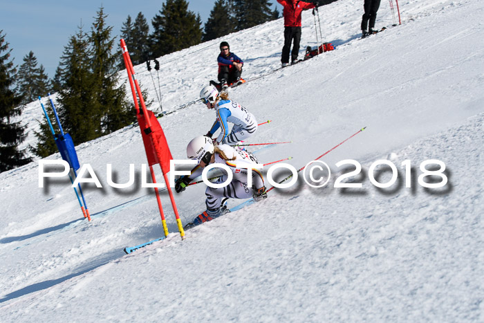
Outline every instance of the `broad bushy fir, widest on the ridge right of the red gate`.
[(201, 43), (200, 15), (188, 10), (185, 0), (167, 0), (151, 20), (151, 55), (160, 57)]

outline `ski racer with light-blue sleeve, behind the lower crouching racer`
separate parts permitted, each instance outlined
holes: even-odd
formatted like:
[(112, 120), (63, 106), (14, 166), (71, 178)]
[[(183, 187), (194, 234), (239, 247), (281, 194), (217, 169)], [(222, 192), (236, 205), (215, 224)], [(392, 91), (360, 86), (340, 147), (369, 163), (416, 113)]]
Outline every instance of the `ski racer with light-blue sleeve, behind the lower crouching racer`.
[[(208, 109), (215, 109), (216, 112), (216, 120), (205, 135), (212, 138), (215, 131), (221, 128), (215, 145), (234, 145), (257, 131), (257, 120), (254, 115), (241, 104), (228, 100), (227, 93), (218, 93), (215, 86), (205, 86), (200, 92), (200, 98)], [(232, 131), (229, 131), (229, 122), (234, 124)]]

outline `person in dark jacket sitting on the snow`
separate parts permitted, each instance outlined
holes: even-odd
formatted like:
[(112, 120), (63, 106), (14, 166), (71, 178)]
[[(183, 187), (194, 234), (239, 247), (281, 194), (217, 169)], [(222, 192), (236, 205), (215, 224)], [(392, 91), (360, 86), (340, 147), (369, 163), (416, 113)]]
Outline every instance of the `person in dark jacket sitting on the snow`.
[(227, 89), (229, 84), (242, 84), (245, 82), (241, 78), (243, 61), (234, 53), (230, 53), (230, 46), (227, 41), (220, 43), (220, 54), (218, 62), (218, 82), (222, 89)]

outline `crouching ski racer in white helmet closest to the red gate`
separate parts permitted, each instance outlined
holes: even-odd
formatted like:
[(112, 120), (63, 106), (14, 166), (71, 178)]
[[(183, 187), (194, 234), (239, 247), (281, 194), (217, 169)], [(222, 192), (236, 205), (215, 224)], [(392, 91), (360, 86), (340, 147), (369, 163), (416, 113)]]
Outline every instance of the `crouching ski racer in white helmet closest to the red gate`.
[[(254, 164), (259, 162), (249, 152), (234, 149), (229, 145), (214, 146), (212, 139), (206, 136), (199, 136), (189, 142), (187, 157), (197, 160), (198, 165), (192, 169), (190, 175), (181, 176), (176, 180), (175, 190), (177, 193), (183, 192), (185, 187), (194, 178), (200, 176), (205, 166), (209, 164), (218, 163), (225, 165), (233, 175), (232, 181), (225, 187), (207, 187), (207, 190), (205, 190), (207, 210), (194, 219), (193, 223), (195, 225), (210, 221), (223, 214), (222, 203), (225, 201), (224, 198), (250, 199), (252, 197), (254, 201), (261, 201), (267, 198), (261, 169), (254, 167)], [(251, 187), (248, 185), (248, 174), (252, 178)], [(214, 183), (225, 183), (225, 181), (227, 181), (227, 174), (223, 174)]]

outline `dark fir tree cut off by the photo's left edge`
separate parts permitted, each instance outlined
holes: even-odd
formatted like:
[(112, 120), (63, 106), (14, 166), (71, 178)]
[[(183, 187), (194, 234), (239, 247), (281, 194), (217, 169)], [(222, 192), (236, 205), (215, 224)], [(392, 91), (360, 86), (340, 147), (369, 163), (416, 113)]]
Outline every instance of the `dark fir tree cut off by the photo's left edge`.
[(0, 172), (5, 172), (29, 163), (30, 158), (25, 156), (25, 151), (19, 150), (19, 144), (25, 138), (24, 127), (12, 120), (21, 116), (19, 104), (22, 98), (12, 90), (16, 68), (9, 61), (11, 50), (8, 50), (6, 35), (2, 33), (0, 30)]

